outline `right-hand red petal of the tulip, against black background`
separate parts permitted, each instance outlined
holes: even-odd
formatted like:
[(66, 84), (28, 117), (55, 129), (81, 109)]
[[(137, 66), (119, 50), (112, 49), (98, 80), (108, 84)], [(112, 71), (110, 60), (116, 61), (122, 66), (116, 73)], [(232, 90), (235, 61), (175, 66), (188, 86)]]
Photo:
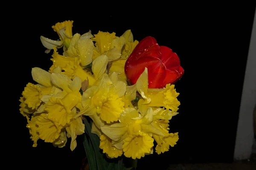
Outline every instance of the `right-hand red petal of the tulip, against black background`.
[(178, 55), (172, 52), (172, 49), (166, 46), (160, 46), (160, 51), (162, 54), (161, 60), (166, 66), (166, 69), (178, 70), (180, 67), (180, 59)]

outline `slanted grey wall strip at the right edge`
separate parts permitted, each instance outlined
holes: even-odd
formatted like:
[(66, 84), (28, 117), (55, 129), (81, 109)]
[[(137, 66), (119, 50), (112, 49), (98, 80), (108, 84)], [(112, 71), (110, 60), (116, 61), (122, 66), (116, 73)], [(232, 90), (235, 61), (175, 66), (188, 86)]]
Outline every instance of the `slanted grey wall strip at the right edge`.
[(239, 111), (239, 121), (236, 134), (234, 159), (249, 159), (252, 153), (253, 109), (256, 104), (256, 14), (254, 14), (253, 29), (244, 77), (244, 86)]

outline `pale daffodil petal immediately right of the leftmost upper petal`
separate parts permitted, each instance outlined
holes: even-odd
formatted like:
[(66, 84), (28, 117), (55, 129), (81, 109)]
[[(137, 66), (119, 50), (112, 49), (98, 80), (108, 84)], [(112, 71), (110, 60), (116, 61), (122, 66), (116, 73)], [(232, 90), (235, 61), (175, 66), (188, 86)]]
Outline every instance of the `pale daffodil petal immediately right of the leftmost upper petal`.
[(70, 85), (72, 80), (65, 74), (52, 73), (51, 81), (54, 85), (56, 85), (59, 88), (62, 88), (64, 91), (71, 92), (71, 89), (68, 86)]

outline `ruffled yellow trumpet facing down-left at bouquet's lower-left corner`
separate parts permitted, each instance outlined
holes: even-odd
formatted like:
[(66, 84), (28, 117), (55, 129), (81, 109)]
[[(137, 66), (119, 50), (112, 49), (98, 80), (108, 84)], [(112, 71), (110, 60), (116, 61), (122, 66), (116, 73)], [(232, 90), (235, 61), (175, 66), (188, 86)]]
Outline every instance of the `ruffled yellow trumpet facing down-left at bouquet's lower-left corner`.
[(43, 139), (44, 142), (52, 143), (60, 136), (62, 127), (56, 127), (54, 123), (47, 118), (46, 113), (42, 113), (38, 116), (36, 124), (38, 125), (37, 132), (39, 133), (39, 137)]

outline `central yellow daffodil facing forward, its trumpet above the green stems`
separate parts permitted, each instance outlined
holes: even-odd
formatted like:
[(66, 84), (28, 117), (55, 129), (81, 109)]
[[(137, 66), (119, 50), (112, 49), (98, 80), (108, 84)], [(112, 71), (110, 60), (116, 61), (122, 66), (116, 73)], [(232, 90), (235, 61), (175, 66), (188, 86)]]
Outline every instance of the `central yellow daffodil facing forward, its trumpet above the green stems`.
[(108, 75), (102, 76), (98, 86), (92, 86), (84, 92), (84, 110), (81, 113), (87, 116), (98, 114), (103, 121), (110, 123), (117, 121), (119, 114), (124, 110), (122, 96), (125, 94), (126, 86), (123, 82), (108, 85), (108, 79)]

